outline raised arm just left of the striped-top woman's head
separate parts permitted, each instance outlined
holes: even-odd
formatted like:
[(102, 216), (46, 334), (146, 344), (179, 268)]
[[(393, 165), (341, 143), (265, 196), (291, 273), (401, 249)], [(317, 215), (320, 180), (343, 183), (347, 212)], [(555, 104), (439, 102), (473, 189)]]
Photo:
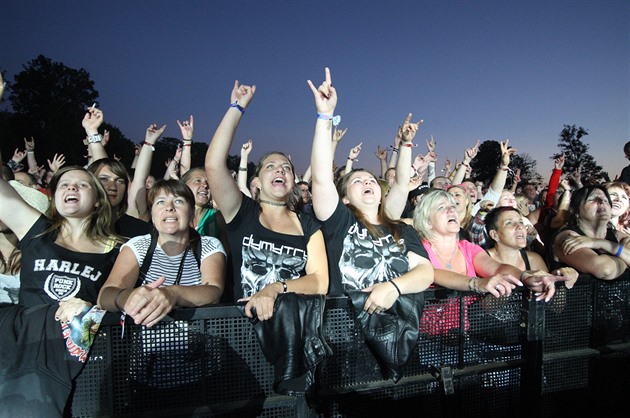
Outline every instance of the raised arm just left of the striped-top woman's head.
[(164, 129), (166, 129), (166, 125), (162, 125), (161, 128), (158, 128), (157, 125), (153, 123), (149, 125), (144, 136), (144, 143), (142, 144), (142, 149), (140, 149), (136, 171), (133, 176), (133, 181), (129, 185), (129, 192), (127, 193), (127, 215), (133, 216), (134, 218), (142, 220), (150, 219), (147, 206), (146, 181), (147, 177), (149, 177), (149, 171), (151, 170), (155, 143), (160, 139)]

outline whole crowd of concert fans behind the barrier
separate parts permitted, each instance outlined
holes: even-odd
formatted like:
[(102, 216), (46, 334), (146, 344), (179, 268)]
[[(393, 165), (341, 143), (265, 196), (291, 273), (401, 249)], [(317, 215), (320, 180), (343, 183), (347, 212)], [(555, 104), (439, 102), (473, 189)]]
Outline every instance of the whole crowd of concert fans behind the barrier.
[[(461, 163), (447, 160), (438, 176), (432, 137), (426, 154), (413, 155), (423, 121), (411, 114), (395, 130), (391, 151), (376, 150), (380, 173), (354, 167), (361, 143), (337, 167), (347, 129), (337, 126), (330, 70), (308, 87), (317, 119), (302, 176), (289, 156), (270, 150), (247, 178), (252, 140), (241, 147), (239, 171), (228, 169), (256, 93), (238, 81), (205, 167), (191, 167), (192, 116), (177, 121), (181, 146), (156, 181), (149, 171), (165, 126), (149, 125), (126, 167), (107, 154), (104, 114), (94, 106), (82, 121), (86, 165), (66, 165), (57, 154), (48, 169), (39, 166), (32, 138), (2, 160), (0, 351), (7, 355), (0, 356), (0, 408), (21, 415), (20, 408), (39, 405), (42, 413), (62, 414), (78, 372), (66, 371), (66, 389), (55, 389), (48, 402), (54, 385), (47, 382), (58, 370), (38, 363), (42, 343), (34, 342), (64, 355), (62, 327), (93, 306), (151, 328), (178, 307), (240, 302), (248, 317), (264, 321), (282, 293), (360, 290), (369, 294), (363, 309), (379, 315), (430, 286), (472, 298), (527, 288), (549, 301), (557, 283), (570, 289), (580, 273), (614, 280), (627, 269), (630, 170), (614, 182), (582, 185), (579, 175), (563, 173), (560, 156), (548, 184), (521, 185), (509, 166), (516, 149), (505, 140), (489, 184), (470, 177), (479, 141)], [(431, 315), (423, 321), (430, 333), (453, 326)], [(40, 395), (25, 397), (29, 385)]]

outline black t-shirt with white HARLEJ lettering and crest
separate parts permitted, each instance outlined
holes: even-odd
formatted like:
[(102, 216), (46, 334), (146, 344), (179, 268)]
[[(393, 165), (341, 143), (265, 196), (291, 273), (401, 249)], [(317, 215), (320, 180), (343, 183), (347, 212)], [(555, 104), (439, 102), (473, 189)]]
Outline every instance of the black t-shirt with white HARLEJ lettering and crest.
[(57, 234), (42, 235), (49, 227), (50, 220), (42, 215), (18, 243), (19, 303), (28, 307), (76, 297), (95, 304), (118, 248), (103, 254), (71, 251), (55, 244)]

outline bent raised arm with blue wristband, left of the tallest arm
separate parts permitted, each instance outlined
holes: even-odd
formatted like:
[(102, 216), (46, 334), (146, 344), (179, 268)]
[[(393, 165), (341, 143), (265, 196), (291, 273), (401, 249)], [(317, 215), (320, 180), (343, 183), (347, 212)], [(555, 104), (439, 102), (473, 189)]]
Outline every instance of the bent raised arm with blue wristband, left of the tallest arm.
[(236, 128), (243, 118), (245, 109), (254, 97), (254, 93), (256, 93), (256, 86), (239, 85), (238, 80), (234, 81), (231, 105), (214, 133), (206, 153), (205, 165), (210, 191), (228, 223), (236, 216), (241, 206), (243, 194), (232, 178), (230, 170), (228, 170), (227, 157), (236, 134)]

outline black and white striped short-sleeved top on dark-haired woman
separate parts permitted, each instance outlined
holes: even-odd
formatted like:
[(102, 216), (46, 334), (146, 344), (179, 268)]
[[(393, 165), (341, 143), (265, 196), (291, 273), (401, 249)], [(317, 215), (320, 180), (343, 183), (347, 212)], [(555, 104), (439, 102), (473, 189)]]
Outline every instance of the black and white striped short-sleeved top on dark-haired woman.
[[(133, 237), (122, 248), (129, 247), (136, 255), (138, 265), (142, 266), (144, 257), (149, 249), (151, 243), (151, 235), (141, 235)], [(121, 248), (121, 250), (122, 250)], [(201, 237), (201, 262), (203, 260), (217, 252), (222, 253), (225, 256), (225, 250), (221, 241), (214, 237)], [(182, 254), (174, 256), (168, 256), (160, 247), (158, 243), (155, 247), (155, 253), (151, 260), (151, 266), (147, 272), (147, 276), (143, 284), (156, 281), (162, 276), (166, 277), (166, 281), (162, 286), (171, 286), (175, 283), (177, 277), (177, 270), (182, 260)], [(192, 250), (189, 250), (186, 254), (186, 260), (184, 261), (184, 269), (182, 270), (182, 278), (179, 282), (180, 286), (195, 286), (201, 284), (201, 273), (197, 267), (197, 261)]]

